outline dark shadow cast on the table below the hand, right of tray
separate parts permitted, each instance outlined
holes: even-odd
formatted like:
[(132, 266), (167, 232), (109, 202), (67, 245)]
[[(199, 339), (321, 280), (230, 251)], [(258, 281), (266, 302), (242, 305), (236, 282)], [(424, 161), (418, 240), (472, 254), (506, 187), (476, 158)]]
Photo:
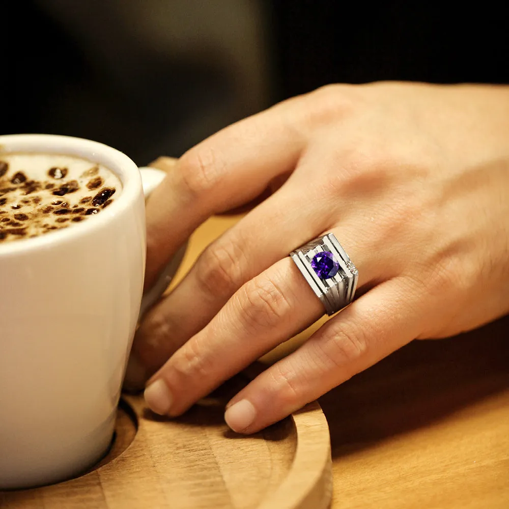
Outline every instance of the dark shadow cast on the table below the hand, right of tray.
[(430, 425), (507, 387), (509, 317), (446, 340), (414, 341), (320, 398), (332, 457)]

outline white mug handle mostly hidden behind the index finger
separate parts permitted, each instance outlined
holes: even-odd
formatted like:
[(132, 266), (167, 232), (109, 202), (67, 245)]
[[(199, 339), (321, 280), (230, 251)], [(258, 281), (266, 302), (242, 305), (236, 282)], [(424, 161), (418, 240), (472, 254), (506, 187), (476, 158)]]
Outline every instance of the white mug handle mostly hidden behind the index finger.
[[(162, 182), (166, 176), (166, 173), (161, 169), (152, 168), (149, 166), (140, 167), (139, 173), (142, 176), (143, 193), (145, 194), (145, 199), (147, 199), (152, 191)], [(139, 309), (138, 321), (142, 319), (147, 309), (155, 304), (155, 302), (172, 282), (172, 279), (174, 278), (178, 268), (180, 267), (180, 264), (182, 263), (186, 248), (187, 241), (182, 247), (179, 248), (179, 250), (174, 254), (173, 258), (168, 262), (166, 267), (164, 267), (164, 269), (160, 272), (159, 277), (156, 279), (152, 287), (143, 295), (142, 304)]]

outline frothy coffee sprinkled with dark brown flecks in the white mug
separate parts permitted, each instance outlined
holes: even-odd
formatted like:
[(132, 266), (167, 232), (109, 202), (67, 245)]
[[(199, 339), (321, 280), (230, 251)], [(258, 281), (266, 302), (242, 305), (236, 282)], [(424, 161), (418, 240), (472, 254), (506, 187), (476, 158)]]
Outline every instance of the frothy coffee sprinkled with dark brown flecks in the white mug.
[(108, 207), (121, 191), (114, 173), (87, 159), (0, 153), (0, 242), (79, 224)]

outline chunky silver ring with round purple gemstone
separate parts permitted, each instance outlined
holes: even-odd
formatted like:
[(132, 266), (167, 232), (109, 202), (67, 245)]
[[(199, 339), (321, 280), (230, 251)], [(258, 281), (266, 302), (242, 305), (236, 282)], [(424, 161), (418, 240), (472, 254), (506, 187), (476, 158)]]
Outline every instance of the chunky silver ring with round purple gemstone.
[(333, 315), (352, 302), (359, 271), (333, 234), (319, 237), (290, 253), (309, 286)]

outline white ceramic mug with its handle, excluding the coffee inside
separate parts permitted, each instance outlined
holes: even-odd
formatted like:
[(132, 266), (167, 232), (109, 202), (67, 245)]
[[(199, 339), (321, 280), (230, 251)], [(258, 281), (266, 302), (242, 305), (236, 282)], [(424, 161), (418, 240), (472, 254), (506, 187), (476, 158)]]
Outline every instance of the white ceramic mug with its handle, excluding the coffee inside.
[(89, 159), (114, 172), (122, 192), (76, 226), (0, 244), (0, 489), (72, 477), (107, 450), (142, 301), (143, 187), (163, 176), (147, 168), (142, 187), (125, 154), (67, 136), (0, 136), (5, 152)]

